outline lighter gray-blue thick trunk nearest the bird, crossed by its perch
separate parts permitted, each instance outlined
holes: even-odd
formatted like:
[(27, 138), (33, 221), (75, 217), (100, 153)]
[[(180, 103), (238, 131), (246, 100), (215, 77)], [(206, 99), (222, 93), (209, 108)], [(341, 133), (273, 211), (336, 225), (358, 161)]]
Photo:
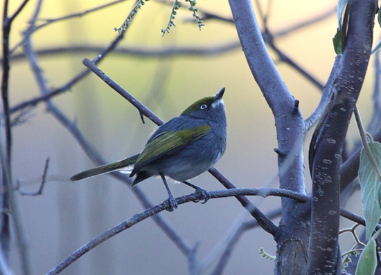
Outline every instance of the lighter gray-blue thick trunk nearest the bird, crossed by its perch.
[[(251, 1), (230, 0), (229, 3), (251, 73), (274, 114), (280, 187), (304, 193), (304, 120), (299, 102), (287, 90), (267, 53)], [(284, 274), (301, 272), (306, 263), (303, 252), (308, 245), (309, 225), (305, 219), (308, 212), (303, 204), (288, 198), (282, 198), (282, 209), (281, 225), (275, 237), (278, 243), (276, 270), (283, 270)]]

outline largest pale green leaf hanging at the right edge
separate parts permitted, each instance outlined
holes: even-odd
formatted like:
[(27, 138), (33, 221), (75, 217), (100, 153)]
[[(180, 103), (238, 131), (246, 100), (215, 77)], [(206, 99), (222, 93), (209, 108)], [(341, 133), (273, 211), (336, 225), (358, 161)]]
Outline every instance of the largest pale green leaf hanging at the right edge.
[[(376, 164), (381, 167), (381, 144), (379, 142), (369, 142), (368, 144)], [(362, 211), (366, 221), (366, 240), (369, 240), (381, 216), (378, 194), (380, 182), (364, 149), (362, 149), (360, 156), (359, 177)]]

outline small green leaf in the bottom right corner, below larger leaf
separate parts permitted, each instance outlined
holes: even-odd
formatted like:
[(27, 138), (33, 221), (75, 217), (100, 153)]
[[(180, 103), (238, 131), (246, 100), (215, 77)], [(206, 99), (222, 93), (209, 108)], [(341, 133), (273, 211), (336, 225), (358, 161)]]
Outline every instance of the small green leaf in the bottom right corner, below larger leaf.
[(360, 255), (359, 262), (357, 263), (355, 275), (372, 275), (375, 272), (377, 266), (375, 240), (371, 238), (366, 245), (362, 254)]

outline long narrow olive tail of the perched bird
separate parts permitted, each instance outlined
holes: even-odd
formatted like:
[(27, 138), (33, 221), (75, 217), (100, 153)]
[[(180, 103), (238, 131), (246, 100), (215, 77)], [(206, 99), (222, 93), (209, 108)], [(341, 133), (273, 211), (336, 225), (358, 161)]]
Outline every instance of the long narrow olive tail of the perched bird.
[(121, 160), (121, 161), (110, 163), (110, 164), (105, 164), (105, 165), (102, 165), (100, 167), (96, 167), (94, 169), (89, 169), (89, 170), (80, 172), (80, 173), (72, 176), (70, 178), (70, 180), (71, 181), (83, 180), (85, 178), (94, 177), (94, 176), (97, 176), (97, 175), (100, 175), (103, 173), (109, 173), (112, 171), (121, 170), (123, 168), (132, 166), (132, 164), (134, 164), (136, 162), (138, 157), (139, 157), (139, 154), (133, 155), (132, 157), (126, 158), (125, 160)]

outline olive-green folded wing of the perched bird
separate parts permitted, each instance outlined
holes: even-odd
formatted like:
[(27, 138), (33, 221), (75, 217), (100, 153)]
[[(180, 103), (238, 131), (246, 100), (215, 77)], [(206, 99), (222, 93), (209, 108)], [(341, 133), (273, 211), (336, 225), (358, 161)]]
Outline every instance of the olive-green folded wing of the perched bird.
[(136, 160), (134, 170), (131, 173), (133, 176), (145, 164), (161, 158), (168, 153), (184, 148), (191, 142), (202, 138), (206, 133), (211, 130), (211, 126), (202, 125), (190, 129), (183, 129), (180, 131), (168, 131), (159, 133), (153, 140), (145, 145), (143, 151)]

